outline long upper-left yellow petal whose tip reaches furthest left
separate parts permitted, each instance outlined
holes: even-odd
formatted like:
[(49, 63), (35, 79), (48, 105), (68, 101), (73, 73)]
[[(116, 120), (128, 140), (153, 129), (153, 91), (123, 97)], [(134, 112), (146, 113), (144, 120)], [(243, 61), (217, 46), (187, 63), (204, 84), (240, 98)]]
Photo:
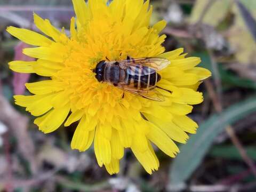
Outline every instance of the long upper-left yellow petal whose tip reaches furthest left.
[(28, 29), (7, 27), (7, 31), (12, 36), (17, 37), (18, 39), (20, 39), (20, 41), (25, 42), (29, 45), (49, 46), (52, 44), (52, 41), (49, 38)]

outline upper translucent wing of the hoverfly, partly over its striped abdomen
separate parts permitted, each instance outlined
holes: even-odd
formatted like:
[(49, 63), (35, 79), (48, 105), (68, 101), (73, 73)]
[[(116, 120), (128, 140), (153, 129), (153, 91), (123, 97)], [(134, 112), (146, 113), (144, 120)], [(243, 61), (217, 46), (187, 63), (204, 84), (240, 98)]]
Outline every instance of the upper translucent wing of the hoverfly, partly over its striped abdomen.
[(164, 69), (171, 62), (164, 58), (139, 58), (117, 61), (119, 67), (127, 69), (130, 75), (149, 75)]

